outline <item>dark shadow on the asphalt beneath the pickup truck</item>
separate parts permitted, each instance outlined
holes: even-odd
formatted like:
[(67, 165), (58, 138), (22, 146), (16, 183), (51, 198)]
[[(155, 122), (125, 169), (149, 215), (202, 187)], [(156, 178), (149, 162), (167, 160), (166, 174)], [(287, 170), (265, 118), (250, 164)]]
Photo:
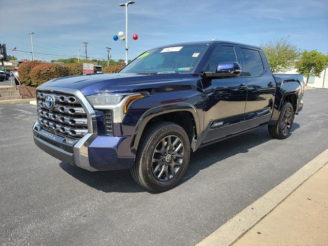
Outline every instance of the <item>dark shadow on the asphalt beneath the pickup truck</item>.
[[(294, 122), (291, 132), (298, 128), (299, 124)], [(267, 126), (264, 126), (257, 130), (200, 148), (197, 152), (191, 154), (188, 169), (179, 184), (186, 182), (200, 170), (206, 169), (220, 160), (238, 153), (247, 153), (249, 149), (272, 139), (273, 138), (269, 135)], [(133, 180), (130, 170), (89, 172), (84, 169), (73, 167), (65, 162), (59, 163), (59, 166), (74, 178), (103, 192), (132, 193), (147, 191)]]

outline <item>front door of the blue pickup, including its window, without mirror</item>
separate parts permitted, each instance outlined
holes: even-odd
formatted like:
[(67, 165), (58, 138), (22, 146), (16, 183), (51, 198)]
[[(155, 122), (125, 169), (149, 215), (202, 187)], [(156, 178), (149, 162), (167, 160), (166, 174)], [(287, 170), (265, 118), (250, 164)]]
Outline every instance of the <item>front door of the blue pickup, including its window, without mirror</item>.
[[(215, 72), (220, 62), (237, 61), (235, 47), (217, 45), (204, 66), (205, 72)], [(247, 100), (247, 85), (234, 78), (202, 78), (206, 93), (204, 103), (203, 143), (215, 141), (243, 130), (244, 110)]]

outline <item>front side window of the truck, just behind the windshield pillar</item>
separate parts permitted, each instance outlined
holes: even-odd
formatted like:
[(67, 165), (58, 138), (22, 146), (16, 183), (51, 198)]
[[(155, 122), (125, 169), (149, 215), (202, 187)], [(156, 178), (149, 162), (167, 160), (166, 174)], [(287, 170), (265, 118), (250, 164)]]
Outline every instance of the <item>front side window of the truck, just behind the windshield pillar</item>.
[(237, 61), (235, 49), (232, 46), (217, 46), (211, 53), (205, 71), (215, 72), (219, 63), (224, 61)]

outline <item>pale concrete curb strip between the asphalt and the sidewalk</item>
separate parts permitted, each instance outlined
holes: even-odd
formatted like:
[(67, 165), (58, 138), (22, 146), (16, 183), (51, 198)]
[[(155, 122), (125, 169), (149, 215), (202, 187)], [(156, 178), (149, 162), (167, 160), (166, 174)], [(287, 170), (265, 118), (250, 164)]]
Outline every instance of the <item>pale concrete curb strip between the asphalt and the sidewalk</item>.
[(321, 169), (327, 163), (327, 159), (328, 149), (306, 163), (304, 167), (292, 176), (243, 209), (235, 217), (228, 220), (196, 245), (232, 245), (238, 238), (247, 233), (255, 224), (273, 211), (286, 197), (302, 185), (303, 182)]

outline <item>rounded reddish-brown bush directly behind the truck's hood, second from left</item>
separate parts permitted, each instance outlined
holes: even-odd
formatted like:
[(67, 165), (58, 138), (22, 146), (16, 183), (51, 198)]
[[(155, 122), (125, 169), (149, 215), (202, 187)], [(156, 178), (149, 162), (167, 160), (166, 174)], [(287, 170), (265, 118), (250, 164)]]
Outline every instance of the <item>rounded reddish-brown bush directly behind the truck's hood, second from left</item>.
[(59, 64), (42, 63), (34, 68), (30, 72), (30, 77), (34, 85), (41, 85), (48, 80), (68, 76), (69, 71), (67, 68)]

